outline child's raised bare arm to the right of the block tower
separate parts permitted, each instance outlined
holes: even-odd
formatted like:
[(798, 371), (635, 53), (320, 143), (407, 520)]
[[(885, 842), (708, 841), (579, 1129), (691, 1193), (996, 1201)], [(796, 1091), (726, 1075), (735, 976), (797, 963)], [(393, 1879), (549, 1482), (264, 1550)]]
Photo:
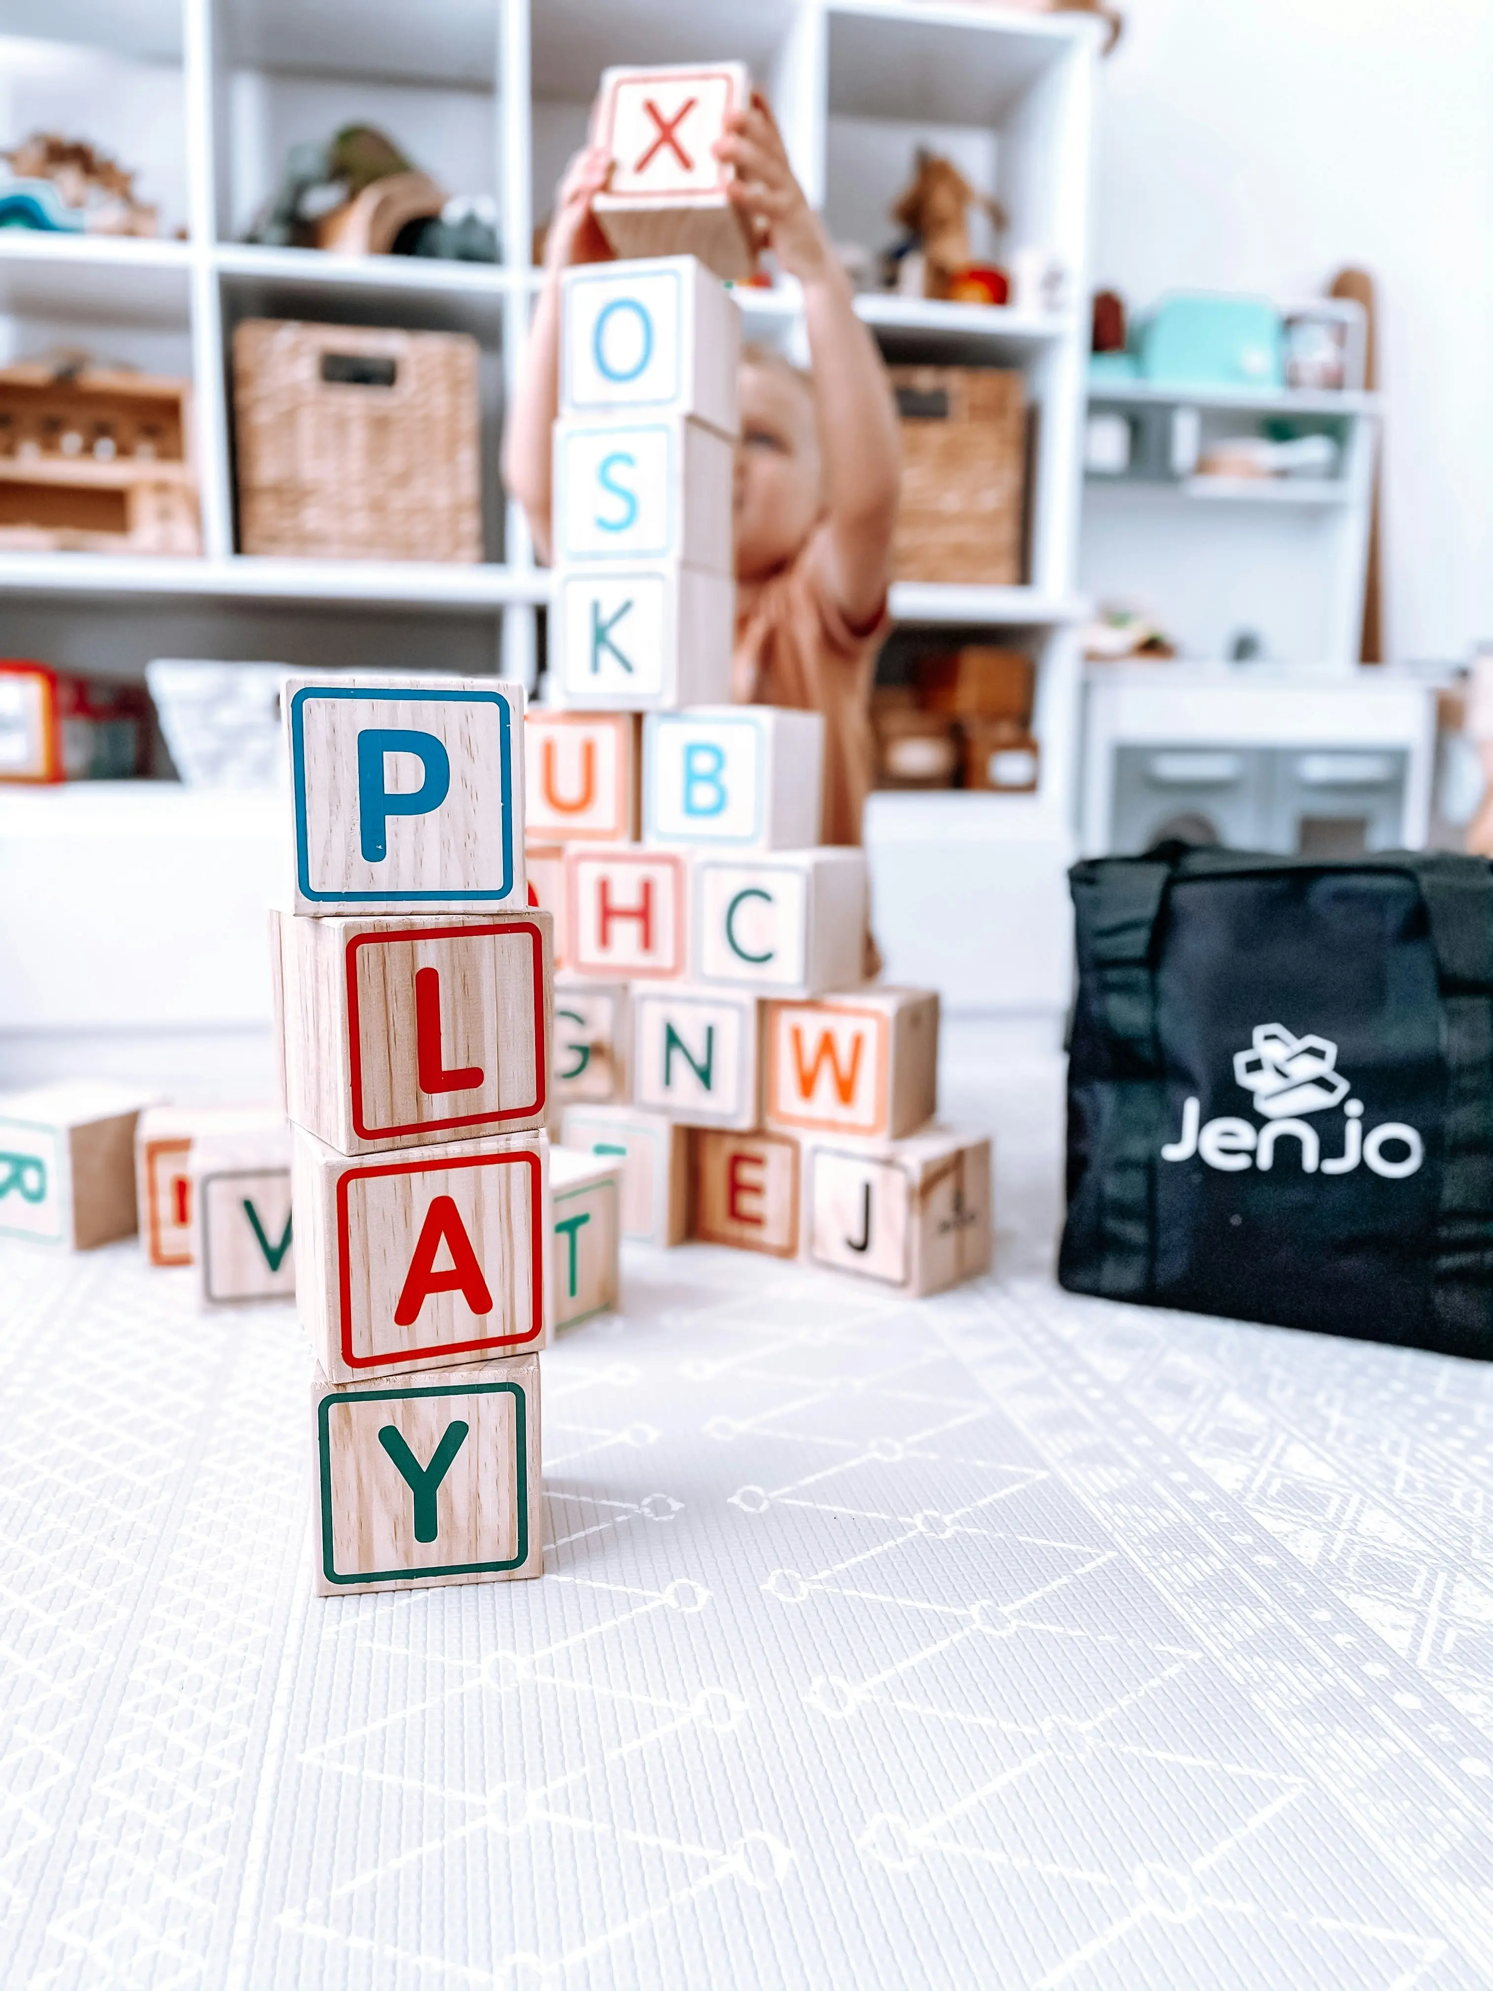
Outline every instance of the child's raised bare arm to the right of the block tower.
[(733, 111), (715, 153), (737, 167), (731, 199), (804, 289), (808, 352), (824, 464), (828, 573), (852, 629), (886, 603), (896, 526), (900, 450), (892, 388), (876, 340), (856, 317), (850, 281), (804, 189), (792, 177), (772, 111), (760, 96)]

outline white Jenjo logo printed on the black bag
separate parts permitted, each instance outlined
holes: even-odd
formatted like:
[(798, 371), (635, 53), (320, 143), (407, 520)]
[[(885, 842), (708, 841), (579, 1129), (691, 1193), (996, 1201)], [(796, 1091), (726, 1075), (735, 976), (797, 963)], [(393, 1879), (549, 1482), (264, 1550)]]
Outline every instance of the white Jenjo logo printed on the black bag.
[[(1360, 1165), (1397, 1183), (1425, 1161), (1425, 1143), (1403, 1121), (1364, 1129), (1364, 1101), (1348, 1099), (1348, 1079), (1338, 1071), (1338, 1045), (1328, 1037), (1294, 1037), (1284, 1023), (1258, 1023), (1248, 1051), (1234, 1053), (1234, 1083), (1254, 1097), (1264, 1121), (1210, 1119), (1202, 1123), (1196, 1099), (1182, 1103), (1182, 1131), (1169, 1141), (1163, 1161), (1190, 1161), (1210, 1169), (1272, 1169), (1280, 1141), (1296, 1141), (1302, 1175), (1352, 1175)], [(1342, 1105), (1340, 1155), (1322, 1153), (1322, 1135), (1304, 1115)]]

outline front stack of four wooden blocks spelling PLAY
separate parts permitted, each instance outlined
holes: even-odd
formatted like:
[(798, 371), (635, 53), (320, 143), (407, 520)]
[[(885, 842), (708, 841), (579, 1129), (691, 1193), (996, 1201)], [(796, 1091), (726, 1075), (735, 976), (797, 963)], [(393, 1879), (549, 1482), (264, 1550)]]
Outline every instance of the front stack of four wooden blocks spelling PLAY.
[(289, 679), (275, 916), (320, 1595), (541, 1567), (553, 946), (524, 693)]

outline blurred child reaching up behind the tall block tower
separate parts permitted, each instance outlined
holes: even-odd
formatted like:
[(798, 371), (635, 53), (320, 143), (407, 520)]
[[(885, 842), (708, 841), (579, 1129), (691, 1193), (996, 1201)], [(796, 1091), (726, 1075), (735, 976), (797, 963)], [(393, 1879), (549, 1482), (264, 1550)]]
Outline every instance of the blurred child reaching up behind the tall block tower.
[[(872, 784), (870, 687), (886, 621), (898, 508), (898, 430), (876, 344), (850, 283), (792, 177), (762, 98), (735, 111), (715, 145), (737, 169), (731, 199), (758, 249), (796, 277), (812, 374), (748, 346), (737, 446), (737, 649), (733, 697), (824, 713), (824, 822), (858, 844)], [(555, 197), (545, 275), (514, 398), (504, 476), (549, 559), (549, 424), (559, 408), (559, 273), (611, 251), (591, 213), (607, 153), (577, 153)], [(868, 948), (868, 970), (874, 952)]]

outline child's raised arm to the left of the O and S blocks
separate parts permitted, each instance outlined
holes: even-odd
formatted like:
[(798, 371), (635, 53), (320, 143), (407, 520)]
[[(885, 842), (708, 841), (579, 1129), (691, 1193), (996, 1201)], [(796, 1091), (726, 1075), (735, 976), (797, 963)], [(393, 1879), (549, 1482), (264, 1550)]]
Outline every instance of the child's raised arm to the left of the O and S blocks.
[(607, 183), (609, 155), (603, 145), (587, 145), (565, 167), (555, 193), (555, 217), (543, 251), (543, 283), (533, 307), (524, 366), (508, 410), (504, 436), (504, 484), (530, 520), (530, 538), (539, 559), (549, 559), (549, 480), (551, 428), (559, 414), (559, 273), (571, 263), (605, 263), (611, 249), (591, 213), (591, 195)]

